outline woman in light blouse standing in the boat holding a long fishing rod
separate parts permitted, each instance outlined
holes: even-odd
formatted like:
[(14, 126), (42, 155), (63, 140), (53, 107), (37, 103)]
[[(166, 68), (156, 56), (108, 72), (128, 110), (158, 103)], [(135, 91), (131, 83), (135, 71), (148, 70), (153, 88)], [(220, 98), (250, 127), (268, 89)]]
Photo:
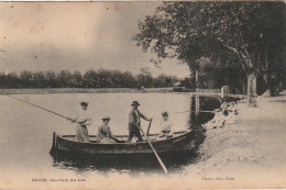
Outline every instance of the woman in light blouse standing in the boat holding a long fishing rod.
[(69, 119), (72, 123), (77, 123), (76, 126), (76, 138), (78, 142), (85, 142), (88, 143), (88, 131), (87, 126), (92, 124), (92, 119), (90, 114), (87, 111), (88, 102), (81, 101), (80, 102), (81, 109), (78, 115), (76, 115), (74, 119)]

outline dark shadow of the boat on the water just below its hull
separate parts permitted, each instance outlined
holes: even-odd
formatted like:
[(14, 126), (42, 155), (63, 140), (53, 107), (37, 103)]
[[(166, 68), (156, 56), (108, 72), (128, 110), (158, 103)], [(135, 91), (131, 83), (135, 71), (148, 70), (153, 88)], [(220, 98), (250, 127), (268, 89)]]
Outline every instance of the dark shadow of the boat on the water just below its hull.
[[(196, 157), (196, 152), (185, 153), (184, 155), (175, 155), (168, 157), (161, 155), (161, 158), (169, 172), (176, 172), (180, 167), (186, 166), (193, 161)], [(101, 175), (108, 175), (111, 172), (130, 174), (132, 176), (144, 174), (164, 174), (156, 157), (152, 156), (135, 156), (135, 157), (85, 157), (75, 156), (69, 154), (53, 155), (53, 166), (75, 171), (96, 171)]]

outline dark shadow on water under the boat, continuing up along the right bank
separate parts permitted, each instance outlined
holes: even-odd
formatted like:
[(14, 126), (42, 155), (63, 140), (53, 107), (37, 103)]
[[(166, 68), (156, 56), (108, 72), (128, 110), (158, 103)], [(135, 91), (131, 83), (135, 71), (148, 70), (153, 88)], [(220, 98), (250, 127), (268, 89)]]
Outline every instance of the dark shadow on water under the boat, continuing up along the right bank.
[[(193, 130), (194, 149), (180, 155), (160, 155), (169, 172), (179, 172), (184, 166), (196, 164), (199, 158), (198, 149), (206, 138), (206, 130), (201, 124), (207, 123), (213, 118), (212, 111), (220, 107), (223, 101), (235, 101), (235, 99), (220, 99), (217, 97), (196, 97), (190, 98), (190, 113), (188, 125)], [(155, 157), (153, 156), (124, 156), (105, 158), (88, 157), (85, 155), (70, 154), (52, 154), (53, 166), (61, 169), (75, 171), (95, 171), (101, 175), (108, 174), (130, 174), (136, 176), (140, 174), (163, 174), (163, 170)]]

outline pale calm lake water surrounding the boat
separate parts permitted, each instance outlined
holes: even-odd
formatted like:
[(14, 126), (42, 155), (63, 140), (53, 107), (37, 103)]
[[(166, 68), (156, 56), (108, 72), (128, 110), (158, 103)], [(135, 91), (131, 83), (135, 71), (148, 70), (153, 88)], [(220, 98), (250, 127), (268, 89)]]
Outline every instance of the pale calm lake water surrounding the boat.
[[(88, 100), (89, 112), (94, 115), (94, 124), (88, 128), (89, 134), (97, 134), (101, 118), (111, 118), (110, 126), (113, 134), (128, 134), (128, 115), (131, 102), (138, 100), (140, 110), (146, 116), (155, 116), (151, 133), (158, 132), (161, 113), (168, 111), (169, 119), (175, 123), (175, 131), (186, 130), (191, 123), (205, 123), (213, 115), (211, 113), (189, 113), (196, 105), (200, 110), (213, 110), (220, 105), (216, 98), (191, 98), (190, 94), (173, 93), (96, 93), (96, 94), (23, 94), (19, 99), (38, 104), (66, 116), (74, 116), (81, 100)], [(74, 161), (55, 161), (50, 155), (52, 134), (75, 134), (75, 125), (54, 114), (0, 96), (0, 168), (2, 174), (14, 170), (21, 174), (76, 174), (76, 175), (108, 175), (110, 172), (147, 172), (150, 168), (124, 167), (118, 168), (92, 165), (78, 165)], [(174, 113), (183, 112), (183, 113)], [(172, 114), (174, 113), (174, 114)], [(142, 121), (146, 131), (148, 123)], [(185, 163), (183, 165), (188, 165)], [(170, 166), (179, 170), (182, 166)], [(162, 172), (160, 166), (152, 169)]]

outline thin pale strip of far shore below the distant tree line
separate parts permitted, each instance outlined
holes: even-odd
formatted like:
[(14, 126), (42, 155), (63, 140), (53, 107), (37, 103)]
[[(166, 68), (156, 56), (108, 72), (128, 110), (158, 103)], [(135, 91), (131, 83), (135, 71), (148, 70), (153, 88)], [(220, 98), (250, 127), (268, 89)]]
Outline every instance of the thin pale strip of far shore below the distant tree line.
[[(43, 88), (43, 89), (0, 89), (0, 94), (51, 94), (51, 93), (177, 93), (220, 97), (220, 93), (211, 91), (204, 92), (177, 92), (172, 87), (168, 88)], [(244, 98), (244, 94), (229, 94), (229, 97)]]

